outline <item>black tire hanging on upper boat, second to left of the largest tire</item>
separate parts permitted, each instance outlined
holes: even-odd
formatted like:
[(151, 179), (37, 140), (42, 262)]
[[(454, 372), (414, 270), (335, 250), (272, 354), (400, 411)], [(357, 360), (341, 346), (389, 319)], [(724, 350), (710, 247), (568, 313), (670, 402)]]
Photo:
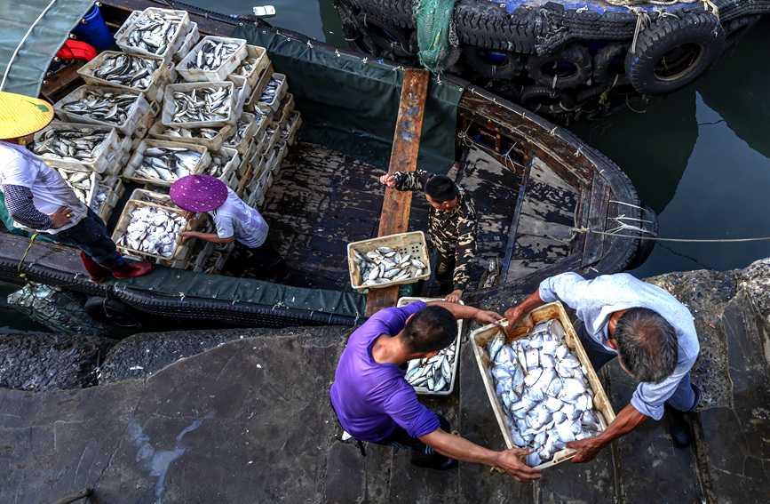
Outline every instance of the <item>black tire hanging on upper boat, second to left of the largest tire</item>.
[(547, 56), (530, 54), (527, 71), (537, 84), (548, 88), (576, 87), (591, 77), (591, 52), (583, 45), (572, 44)]

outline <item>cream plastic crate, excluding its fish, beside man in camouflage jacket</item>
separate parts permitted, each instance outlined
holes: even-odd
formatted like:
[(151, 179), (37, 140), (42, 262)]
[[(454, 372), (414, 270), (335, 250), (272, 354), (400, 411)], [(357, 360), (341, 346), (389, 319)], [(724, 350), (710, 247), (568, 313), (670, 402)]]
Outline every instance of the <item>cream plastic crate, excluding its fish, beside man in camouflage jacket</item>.
[[(365, 281), (361, 279), (361, 271), (359, 271), (358, 265), (355, 263), (356, 257), (353, 254), (353, 251), (366, 256), (367, 252), (375, 251), (380, 247), (393, 249), (401, 255), (406, 253), (409, 254), (412, 259), (420, 260), (425, 264), (423, 274), (410, 276), (409, 278), (404, 278), (402, 280), (386, 280), (382, 284), (365, 285)], [(390, 287), (391, 285), (414, 284), (418, 280), (426, 280), (431, 276), (431, 258), (428, 255), (428, 245), (425, 244), (425, 233), (422, 231), (413, 231), (411, 233), (380, 236), (378, 238), (371, 238), (369, 240), (347, 244), (347, 267), (350, 273), (350, 284), (356, 291), (363, 291), (364, 289), (381, 289), (383, 287)]]

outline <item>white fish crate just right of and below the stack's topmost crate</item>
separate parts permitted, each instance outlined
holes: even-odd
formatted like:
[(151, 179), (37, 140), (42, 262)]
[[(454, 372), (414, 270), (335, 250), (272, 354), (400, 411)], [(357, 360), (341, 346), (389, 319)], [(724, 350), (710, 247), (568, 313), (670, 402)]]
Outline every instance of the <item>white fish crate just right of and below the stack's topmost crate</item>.
[(226, 36), (204, 36), (177, 65), (187, 82), (222, 82), (246, 57), (246, 41)]

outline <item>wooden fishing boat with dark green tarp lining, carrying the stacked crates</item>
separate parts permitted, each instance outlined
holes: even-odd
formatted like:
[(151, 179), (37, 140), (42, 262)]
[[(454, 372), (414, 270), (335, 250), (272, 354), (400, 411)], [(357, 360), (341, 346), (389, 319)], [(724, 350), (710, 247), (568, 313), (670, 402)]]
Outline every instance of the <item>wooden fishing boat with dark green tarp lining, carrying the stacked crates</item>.
[[(168, 5), (100, 4), (112, 30), (147, 7)], [(184, 8), (201, 36), (232, 36), (265, 48), (302, 114), (299, 140), (259, 207), (294, 273), (290, 284), (228, 276), (226, 266), (217, 275), (158, 266), (148, 276), (92, 284), (76, 249), (39, 240), (30, 246), (28, 237), (8, 232), (0, 233), (0, 278), (21, 284), (23, 274), (97, 300), (92, 306), (118, 300), (139, 321), (189, 319), (199, 328), (357, 324), (377, 305), (353, 290), (346, 248), (377, 237), (391, 218), (379, 177), (398, 143), (393, 132), (409, 68), (264, 21)], [(45, 80), (44, 97), (67, 92), (54, 76)], [(576, 135), (457, 77), (431, 76), (422, 108), (417, 168), (449, 173), (479, 214), (466, 302), (532, 292), (545, 277), (565, 271), (598, 276), (646, 259), (652, 241), (642, 238), (655, 236), (655, 213), (615, 164)], [(130, 193), (131, 186), (107, 223), (110, 232)], [(410, 231), (427, 228), (428, 209), (424, 197), (412, 198)], [(481, 290), (495, 262), (499, 281)], [(407, 293), (420, 295), (415, 287)]]

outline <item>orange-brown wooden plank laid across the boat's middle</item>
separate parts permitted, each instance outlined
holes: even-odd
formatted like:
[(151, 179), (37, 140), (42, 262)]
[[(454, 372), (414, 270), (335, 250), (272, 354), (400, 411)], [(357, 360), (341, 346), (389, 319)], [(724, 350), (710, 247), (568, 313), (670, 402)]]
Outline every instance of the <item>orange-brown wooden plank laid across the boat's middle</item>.
[[(404, 71), (401, 103), (396, 119), (396, 131), (393, 135), (393, 150), (391, 151), (388, 173), (417, 170), (417, 154), (420, 149), (420, 134), (423, 130), (425, 95), (428, 90), (429, 75), (427, 70), (422, 69), (408, 68)], [(412, 191), (397, 191), (386, 188), (377, 236), (406, 233), (409, 228), (409, 207), (411, 204)], [(396, 306), (398, 297), (398, 285), (383, 289), (369, 289), (366, 316), (372, 316), (382, 308)]]

